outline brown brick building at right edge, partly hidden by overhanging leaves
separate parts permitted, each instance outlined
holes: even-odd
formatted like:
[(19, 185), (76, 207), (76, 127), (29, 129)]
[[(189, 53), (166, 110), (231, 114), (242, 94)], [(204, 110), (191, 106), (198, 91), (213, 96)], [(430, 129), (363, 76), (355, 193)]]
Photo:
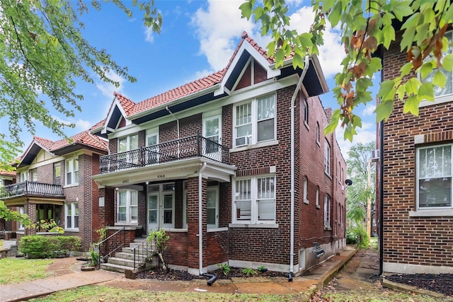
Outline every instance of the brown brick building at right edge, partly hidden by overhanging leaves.
[[(452, 32), (445, 36), (451, 52)], [(383, 52), (383, 80), (393, 79), (406, 62), (394, 42)], [(382, 193), (384, 272), (453, 273), (453, 82), (452, 73), (444, 73), (447, 85), (437, 89), (435, 102), (420, 103), (418, 117), (403, 114), (396, 100), (384, 122), (384, 166), (377, 175), (383, 181), (377, 200)]]

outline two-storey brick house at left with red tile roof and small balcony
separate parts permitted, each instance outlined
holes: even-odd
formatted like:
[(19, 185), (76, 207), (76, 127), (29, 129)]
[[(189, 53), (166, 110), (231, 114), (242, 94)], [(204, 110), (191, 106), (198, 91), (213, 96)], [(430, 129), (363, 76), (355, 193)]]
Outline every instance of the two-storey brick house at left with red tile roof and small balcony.
[[(64, 235), (80, 236), (83, 250), (98, 239), (98, 188), (91, 175), (99, 173), (99, 156), (107, 153), (105, 140), (89, 132), (50, 141), (34, 137), (18, 163), (17, 182), (6, 185), (0, 199), (6, 206), (35, 221), (55, 220)], [(96, 201), (96, 202), (93, 202)], [(9, 225), (9, 226), (8, 226)], [(7, 236), (50, 235), (44, 229), (6, 222)]]

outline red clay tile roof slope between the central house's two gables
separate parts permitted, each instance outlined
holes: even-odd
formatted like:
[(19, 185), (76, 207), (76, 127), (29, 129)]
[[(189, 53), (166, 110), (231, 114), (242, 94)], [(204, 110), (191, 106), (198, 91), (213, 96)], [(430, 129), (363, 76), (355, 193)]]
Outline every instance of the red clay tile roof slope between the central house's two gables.
[(146, 100), (137, 103), (135, 105), (134, 110), (132, 111), (132, 115), (135, 115), (139, 112), (143, 112), (145, 110), (149, 110), (151, 108), (155, 108), (159, 105), (163, 105), (165, 103), (171, 102), (172, 100), (177, 100), (178, 98), (183, 98), (186, 95), (190, 95), (196, 93), (198, 91), (202, 91), (204, 89), (210, 88), (217, 83), (220, 83), (223, 79), (226, 69), (222, 69), (220, 71), (214, 72), (214, 74), (210, 74), (209, 76), (205, 76), (202, 79), (197, 79), (190, 83), (187, 83), (183, 86), (179, 86), (174, 88), (170, 91), (166, 91), (159, 95), (156, 95), (152, 98), (147, 98)]

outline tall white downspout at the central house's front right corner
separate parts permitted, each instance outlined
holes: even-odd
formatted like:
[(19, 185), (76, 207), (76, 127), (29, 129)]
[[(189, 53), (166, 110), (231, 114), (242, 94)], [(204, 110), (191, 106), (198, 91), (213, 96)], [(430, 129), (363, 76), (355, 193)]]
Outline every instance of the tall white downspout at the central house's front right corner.
[(300, 75), (296, 89), (294, 90), (291, 98), (291, 231), (289, 235), (291, 246), (289, 248), (289, 282), (292, 281), (292, 276), (294, 274), (294, 102), (296, 100), (297, 93), (299, 93), (300, 87), (302, 86), (302, 81), (304, 81), (306, 71), (309, 69), (309, 64), (310, 57), (307, 54), (305, 56), (304, 69), (302, 70), (302, 74)]

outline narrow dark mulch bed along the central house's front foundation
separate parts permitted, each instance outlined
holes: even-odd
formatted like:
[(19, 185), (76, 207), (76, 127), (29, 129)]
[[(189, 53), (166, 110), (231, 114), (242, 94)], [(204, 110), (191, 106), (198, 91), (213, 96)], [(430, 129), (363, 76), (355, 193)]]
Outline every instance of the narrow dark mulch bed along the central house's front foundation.
[[(288, 274), (285, 272), (256, 272), (256, 274), (243, 274), (241, 268), (230, 267), (229, 274), (224, 274), (220, 269), (215, 270), (214, 272), (209, 272), (209, 274), (214, 274), (218, 279), (231, 279), (231, 277), (288, 277)], [(137, 279), (157, 279), (162, 281), (190, 281), (190, 280), (205, 280), (207, 277), (203, 276), (194, 276), (188, 272), (178, 271), (174, 269), (169, 269), (165, 271), (161, 267), (154, 267), (150, 270), (139, 272), (137, 274)]]

